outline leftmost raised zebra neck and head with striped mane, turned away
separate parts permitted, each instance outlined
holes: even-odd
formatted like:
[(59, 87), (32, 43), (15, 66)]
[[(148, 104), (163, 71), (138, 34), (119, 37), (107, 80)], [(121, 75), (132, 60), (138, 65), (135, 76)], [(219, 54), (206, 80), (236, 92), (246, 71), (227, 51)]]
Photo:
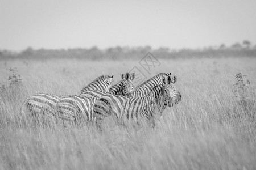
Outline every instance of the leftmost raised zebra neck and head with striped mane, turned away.
[(95, 79), (92, 83), (88, 84), (87, 86), (83, 87), (81, 90), (81, 94), (85, 91), (89, 90), (100, 90), (109, 92), (109, 88), (113, 83), (113, 75), (101, 75), (97, 79)]

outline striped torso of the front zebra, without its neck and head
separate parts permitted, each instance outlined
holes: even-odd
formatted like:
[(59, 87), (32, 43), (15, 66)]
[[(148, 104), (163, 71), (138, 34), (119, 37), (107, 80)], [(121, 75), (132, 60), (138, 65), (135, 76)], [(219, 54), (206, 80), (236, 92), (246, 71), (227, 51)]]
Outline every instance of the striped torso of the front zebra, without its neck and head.
[(93, 112), (96, 114), (98, 122), (102, 121), (103, 117), (110, 115), (121, 124), (127, 121), (148, 122), (147, 105), (153, 101), (152, 96), (133, 98), (108, 94), (96, 100)]

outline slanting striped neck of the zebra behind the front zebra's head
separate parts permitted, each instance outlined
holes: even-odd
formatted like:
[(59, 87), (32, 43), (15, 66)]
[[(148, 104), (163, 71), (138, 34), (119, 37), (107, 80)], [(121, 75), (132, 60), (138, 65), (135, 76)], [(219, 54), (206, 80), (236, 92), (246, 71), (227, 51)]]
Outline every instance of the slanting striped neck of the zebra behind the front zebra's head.
[(171, 73), (159, 73), (151, 79), (146, 80), (146, 82), (136, 87), (133, 92), (134, 97), (143, 97), (150, 95), (150, 92), (155, 86), (162, 84), (163, 77), (167, 78), (167, 76), (169, 75), (171, 75)]

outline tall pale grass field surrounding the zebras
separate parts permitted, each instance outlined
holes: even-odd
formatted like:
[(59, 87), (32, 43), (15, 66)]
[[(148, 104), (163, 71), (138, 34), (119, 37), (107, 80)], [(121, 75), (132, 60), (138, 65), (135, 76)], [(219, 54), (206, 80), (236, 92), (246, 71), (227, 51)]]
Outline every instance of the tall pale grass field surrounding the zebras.
[[(155, 129), (106, 124), (100, 133), (86, 126), (35, 127), (20, 107), (38, 92), (80, 94), (101, 74), (114, 75), (116, 83), (137, 61), (0, 61), (0, 83), (8, 83), (14, 67), (22, 79), (0, 96), (0, 169), (256, 169), (256, 58), (160, 62), (148, 78), (176, 74), (181, 102), (164, 111)], [(240, 72), (250, 84), (236, 97)]]

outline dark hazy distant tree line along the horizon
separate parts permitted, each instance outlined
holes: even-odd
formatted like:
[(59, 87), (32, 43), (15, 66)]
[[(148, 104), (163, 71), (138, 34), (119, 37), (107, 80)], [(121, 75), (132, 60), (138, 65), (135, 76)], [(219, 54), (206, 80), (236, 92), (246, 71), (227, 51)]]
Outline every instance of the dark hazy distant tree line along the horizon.
[(209, 58), (209, 57), (256, 57), (256, 45), (245, 40), (235, 43), (231, 46), (221, 44), (220, 46), (209, 46), (203, 49), (179, 49), (171, 50), (169, 48), (152, 49), (150, 46), (140, 46), (137, 48), (120, 47), (108, 49), (98, 49), (96, 46), (75, 49), (32, 49), (28, 47), (22, 52), (10, 52), (9, 50), (0, 50), (0, 59), (51, 59), (51, 58), (76, 58), (76, 59), (138, 59), (151, 52), (158, 58)]

